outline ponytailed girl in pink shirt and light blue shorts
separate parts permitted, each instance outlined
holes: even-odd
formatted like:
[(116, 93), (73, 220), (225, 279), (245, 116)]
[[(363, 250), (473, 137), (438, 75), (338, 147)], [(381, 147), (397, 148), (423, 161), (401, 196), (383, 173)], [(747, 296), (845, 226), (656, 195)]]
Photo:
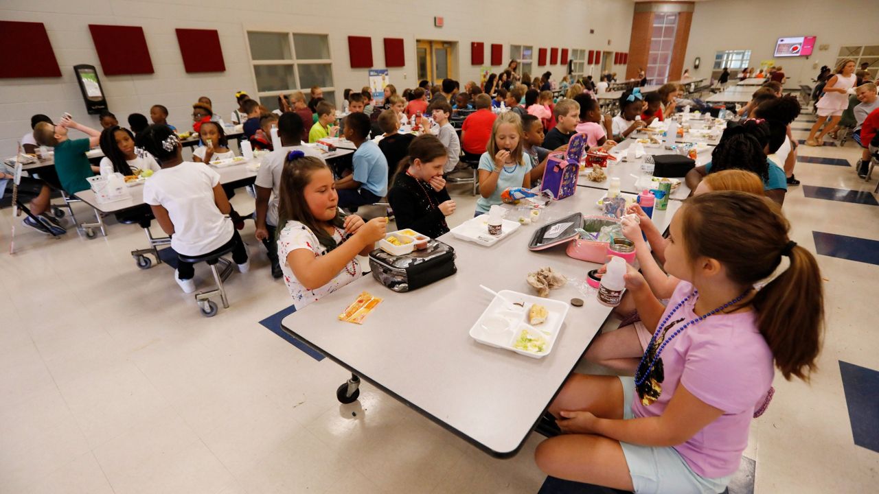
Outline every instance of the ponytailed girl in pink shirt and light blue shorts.
[[(706, 193), (675, 214), (664, 307), (629, 266), (626, 288), (656, 332), (634, 379), (574, 374), (549, 406), (567, 434), (535, 452), (551, 476), (643, 492), (722, 492), (772, 383), (808, 381), (823, 331), (815, 258), (771, 200)], [(753, 286), (771, 277), (765, 287)]]

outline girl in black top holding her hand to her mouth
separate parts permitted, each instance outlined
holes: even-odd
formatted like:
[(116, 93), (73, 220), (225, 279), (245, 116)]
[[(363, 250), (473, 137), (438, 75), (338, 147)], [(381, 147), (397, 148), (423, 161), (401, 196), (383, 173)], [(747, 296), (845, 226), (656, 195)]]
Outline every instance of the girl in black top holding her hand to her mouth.
[(412, 141), (388, 193), (396, 228), (414, 229), (431, 238), (448, 233), (446, 216), (454, 213), (455, 205), (442, 178), (446, 149), (432, 134), (419, 135)]

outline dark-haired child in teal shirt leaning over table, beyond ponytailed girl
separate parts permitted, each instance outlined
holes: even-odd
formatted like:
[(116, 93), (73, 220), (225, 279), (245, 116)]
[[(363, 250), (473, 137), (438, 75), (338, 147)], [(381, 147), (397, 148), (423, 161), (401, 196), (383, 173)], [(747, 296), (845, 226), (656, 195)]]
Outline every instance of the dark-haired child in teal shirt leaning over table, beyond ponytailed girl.
[[(774, 132), (771, 126), (782, 128)], [(770, 138), (773, 134), (781, 134), (783, 142), (783, 127), (781, 122), (771, 120), (745, 120), (740, 125), (726, 127), (720, 142), (711, 152), (711, 161), (686, 173), (686, 186), (696, 190), (702, 178), (712, 172), (730, 169), (752, 171), (763, 180), (766, 197), (781, 206), (788, 192), (787, 179), (784, 170), (771, 163), (766, 156), (772, 154)], [(777, 140), (774, 140), (774, 144), (781, 145)]]

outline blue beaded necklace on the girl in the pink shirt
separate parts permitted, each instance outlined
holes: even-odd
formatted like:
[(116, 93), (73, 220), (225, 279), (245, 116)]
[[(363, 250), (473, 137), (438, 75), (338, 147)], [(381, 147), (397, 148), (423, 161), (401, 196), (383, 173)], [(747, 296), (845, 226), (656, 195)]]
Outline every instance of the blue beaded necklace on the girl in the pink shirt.
[[(745, 291), (744, 294), (740, 294), (731, 301), (724, 303), (717, 309), (708, 312), (708, 314), (690, 320), (675, 330), (672, 333), (672, 336), (664, 339), (666, 332), (671, 330), (675, 324), (683, 321), (683, 319), (678, 319), (669, 324), (669, 320), (678, 309), (684, 306), (686, 301), (693, 297), (698, 297), (699, 290), (694, 290), (693, 294), (687, 295), (684, 300), (679, 301), (678, 305), (674, 306), (674, 309), (672, 309), (672, 311), (668, 313), (668, 316), (665, 316), (663, 322), (659, 324), (660, 329), (653, 333), (653, 338), (650, 338), (650, 344), (647, 345), (647, 350), (644, 352), (643, 357), (641, 357), (641, 362), (638, 364), (638, 370), (635, 373), (635, 388), (638, 392), (638, 397), (641, 398), (641, 403), (643, 403), (644, 406), (649, 406), (651, 403), (656, 402), (657, 399), (659, 399), (659, 395), (662, 394), (662, 381), (665, 379), (665, 373), (663, 372), (663, 363), (659, 356), (662, 354), (663, 350), (665, 350), (665, 346), (671, 343), (672, 339), (678, 336), (682, 331), (686, 330), (689, 326), (700, 323), (709, 316), (714, 316), (716, 313), (730, 307), (730, 305), (737, 304), (745, 298), (746, 294), (748, 294), (748, 291)], [(662, 345), (659, 345), (657, 338), (664, 339)], [(649, 363), (648, 360), (650, 360)]]

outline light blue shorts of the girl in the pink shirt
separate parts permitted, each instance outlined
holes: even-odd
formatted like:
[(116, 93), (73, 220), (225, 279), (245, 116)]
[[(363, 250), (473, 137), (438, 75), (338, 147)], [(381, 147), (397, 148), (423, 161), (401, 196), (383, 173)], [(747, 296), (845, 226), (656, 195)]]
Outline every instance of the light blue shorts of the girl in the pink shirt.
[[(632, 399), (635, 396), (635, 379), (620, 376), (625, 403), (622, 418), (635, 418), (632, 413)], [(723, 492), (732, 476), (705, 478), (700, 476), (673, 447), (650, 447), (620, 442), (622, 453), (626, 456), (628, 473), (636, 494), (666, 493), (675, 494), (716, 494)]]

